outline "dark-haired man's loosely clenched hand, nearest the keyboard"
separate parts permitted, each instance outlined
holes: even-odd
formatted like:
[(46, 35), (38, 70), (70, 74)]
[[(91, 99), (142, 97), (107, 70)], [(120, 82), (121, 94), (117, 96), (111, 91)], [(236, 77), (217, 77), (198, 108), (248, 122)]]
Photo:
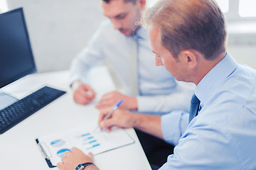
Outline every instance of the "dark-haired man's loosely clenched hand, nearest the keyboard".
[(82, 81), (75, 81), (73, 85), (73, 98), (76, 103), (85, 105), (95, 98), (95, 91), (89, 85), (83, 84)]

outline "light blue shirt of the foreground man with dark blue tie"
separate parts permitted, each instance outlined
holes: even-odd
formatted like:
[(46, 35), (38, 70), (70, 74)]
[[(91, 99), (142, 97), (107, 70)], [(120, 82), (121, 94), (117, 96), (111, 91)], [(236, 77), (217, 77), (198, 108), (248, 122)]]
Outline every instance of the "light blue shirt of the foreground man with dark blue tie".
[[(160, 169), (256, 169), (256, 71), (227, 54), (203, 77), (195, 94), (201, 111)], [(163, 125), (164, 133), (184, 129), (171, 125), (173, 117), (165, 118), (169, 125)]]

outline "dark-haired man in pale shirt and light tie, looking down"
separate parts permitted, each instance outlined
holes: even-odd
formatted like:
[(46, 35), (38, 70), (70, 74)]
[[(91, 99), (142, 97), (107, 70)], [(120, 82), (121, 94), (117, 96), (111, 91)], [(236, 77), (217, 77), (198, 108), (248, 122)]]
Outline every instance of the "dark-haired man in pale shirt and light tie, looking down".
[[(103, 13), (110, 21), (102, 23), (87, 47), (73, 60), (70, 84), (75, 102), (87, 104), (95, 98), (87, 73), (107, 60), (123, 91), (103, 95), (97, 103), (98, 109), (110, 108), (122, 99), (119, 108), (139, 113), (162, 115), (173, 110), (188, 111), (193, 84), (179, 83), (164, 67), (154, 67), (149, 37), (137, 24), (145, 4), (146, 0), (102, 0)], [(154, 164), (162, 164), (173, 152), (173, 146), (163, 140), (139, 130), (137, 135), (149, 162), (161, 160)], [(157, 156), (156, 149), (163, 158)]]

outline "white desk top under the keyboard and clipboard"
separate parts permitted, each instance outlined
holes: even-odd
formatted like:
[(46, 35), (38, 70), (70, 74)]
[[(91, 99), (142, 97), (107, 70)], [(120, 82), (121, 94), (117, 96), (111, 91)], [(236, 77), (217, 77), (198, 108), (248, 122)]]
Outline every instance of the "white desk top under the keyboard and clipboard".
[[(92, 84), (100, 85), (95, 86), (98, 96), (113, 90), (114, 86), (105, 67), (95, 70), (92, 75), (97, 74), (104, 79), (104, 81), (101, 81), (104, 84), (98, 84), (99, 79), (96, 79), (96, 77), (91, 81)], [(45, 85), (67, 91), (64, 96), (0, 135), (1, 170), (49, 169), (36, 145), (36, 137), (80, 127), (86, 123), (95, 123), (96, 125), (99, 114), (95, 109), (97, 99), (87, 106), (74, 103), (72, 92), (68, 86), (68, 76), (68, 71), (31, 74), (1, 89), (1, 91), (13, 94), (17, 98), (26, 96)], [(101, 170), (151, 169), (134, 130), (127, 129), (127, 132), (136, 142), (126, 147), (96, 155), (95, 164)]]

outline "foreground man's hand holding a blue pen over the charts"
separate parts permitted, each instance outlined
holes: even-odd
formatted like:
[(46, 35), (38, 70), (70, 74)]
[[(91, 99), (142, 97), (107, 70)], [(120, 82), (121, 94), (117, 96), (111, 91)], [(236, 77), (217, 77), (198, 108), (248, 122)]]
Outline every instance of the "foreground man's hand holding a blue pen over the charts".
[(120, 128), (132, 128), (134, 126), (134, 113), (117, 109), (112, 113), (110, 118), (103, 120), (105, 115), (109, 113), (111, 108), (105, 108), (100, 111), (99, 125), (100, 129), (106, 128), (108, 131), (111, 130), (111, 127), (116, 125)]

